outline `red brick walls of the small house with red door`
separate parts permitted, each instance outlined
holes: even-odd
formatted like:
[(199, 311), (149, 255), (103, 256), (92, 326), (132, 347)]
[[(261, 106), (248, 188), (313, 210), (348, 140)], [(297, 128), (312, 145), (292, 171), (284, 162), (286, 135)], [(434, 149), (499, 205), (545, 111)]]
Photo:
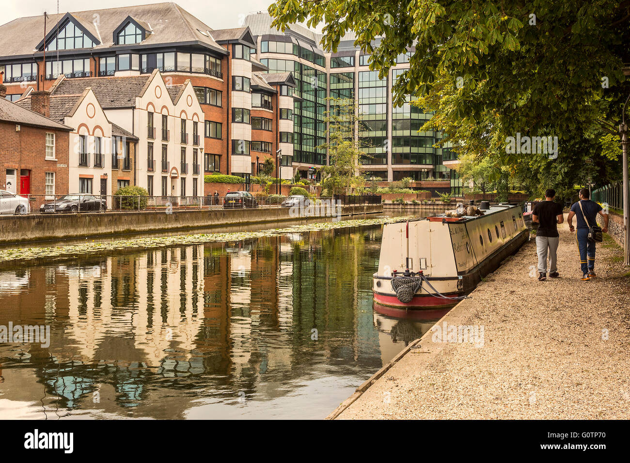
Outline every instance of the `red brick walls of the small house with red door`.
[[(54, 161), (45, 159), (47, 132), (55, 134)], [(46, 172), (55, 173), (55, 195), (68, 193), (68, 158), (68, 132), (27, 125), (20, 125), (16, 132), (14, 123), (0, 122), (0, 188), (6, 188), (6, 169), (16, 169), (16, 193), (25, 194), (20, 191), (20, 170), (28, 169), (30, 194), (37, 198), (31, 202), (31, 209), (43, 202)]]

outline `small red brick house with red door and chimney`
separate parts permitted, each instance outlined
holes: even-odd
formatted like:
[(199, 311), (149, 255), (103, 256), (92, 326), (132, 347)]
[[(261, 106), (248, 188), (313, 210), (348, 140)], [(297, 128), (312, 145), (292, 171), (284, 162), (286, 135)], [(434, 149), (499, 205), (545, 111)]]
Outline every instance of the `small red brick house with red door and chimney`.
[(38, 114), (4, 98), (0, 84), (0, 189), (33, 195), (31, 209), (46, 197), (68, 193), (69, 134), (72, 128), (45, 117), (45, 95), (35, 93)]

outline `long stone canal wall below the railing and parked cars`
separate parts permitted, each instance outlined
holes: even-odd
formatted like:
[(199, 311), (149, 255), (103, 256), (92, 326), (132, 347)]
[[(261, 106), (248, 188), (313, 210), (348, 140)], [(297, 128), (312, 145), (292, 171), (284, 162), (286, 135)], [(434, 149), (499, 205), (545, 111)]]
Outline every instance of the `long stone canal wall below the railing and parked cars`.
[[(341, 217), (379, 214), (381, 204), (341, 207)], [(301, 215), (305, 217), (305, 215)], [(308, 217), (330, 217), (326, 211)], [(138, 232), (174, 231), (235, 224), (285, 222), (299, 219), (288, 207), (257, 209), (173, 210), (140, 212), (88, 212), (81, 214), (1, 215), (0, 243), (103, 236)]]

